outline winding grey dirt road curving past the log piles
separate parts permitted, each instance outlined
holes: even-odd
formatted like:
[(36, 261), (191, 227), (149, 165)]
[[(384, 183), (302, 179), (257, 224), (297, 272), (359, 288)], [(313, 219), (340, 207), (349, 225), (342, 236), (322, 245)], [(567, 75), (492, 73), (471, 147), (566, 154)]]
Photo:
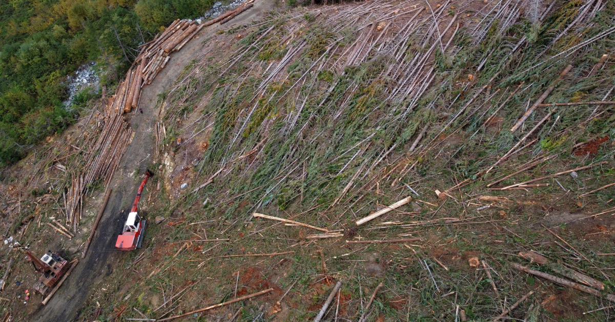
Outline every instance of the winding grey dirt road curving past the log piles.
[[(58, 290), (53, 299), (34, 314), (32, 321), (60, 322), (84, 320), (80, 316), (89, 313), (83, 312), (82, 308), (85, 304), (85, 299), (89, 296), (91, 286), (101, 279), (113, 275), (116, 269), (114, 263), (117, 263), (117, 259), (121, 258), (121, 256), (129, 255), (114, 248), (115, 237), (117, 228), (122, 220), (121, 212), (122, 210), (129, 209), (130, 205), (132, 205), (138, 185), (143, 180), (143, 174), (145, 174), (146, 170), (145, 166), (149, 161), (152, 161), (154, 155), (155, 138), (153, 129), (158, 115), (158, 110), (155, 106), (157, 95), (169, 90), (184, 67), (192, 59), (197, 58), (200, 50), (203, 48), (202, 40), (213, 36), (219, 29), (231, 28), (232, 26), (248, 23), (253, 19), (261, 17), (263, 12), (271, 8), (271, 4), (268, 2), (257, 0), (252, 9), (237, 16), (228, 24), (223, 26), (215, 24), (204, 28), (200, 32), (198, 39), (192, 39), (180, 52), (171, 55), (167, 67), (157, 75), (151, 85), (143, 88), (140, 102), (143, 114), (132, 112), (127, 115), (132, 128), (135, 130), (135, 137), (122, 158), (120, 167), (114, 174), (113, 182), (111, 183), (113, 193), (109, 197), (108, 205), (98, 226), (98, 231), (92, 240), (90, 250), (85, 259), (80, 261), (77, 267), (75, 267), (71, 276)], [(133, 172), (135, 170), (138, 171), (138, 175), (134, 175)], [(142, 200), (147, 199), (147, 194), (151, 188), (153, 186), (146, 185)], [(147, 237), (146, 234), (146, 239)], [(147, 245), (144, 245), (144, 247), (147, 247)]]

